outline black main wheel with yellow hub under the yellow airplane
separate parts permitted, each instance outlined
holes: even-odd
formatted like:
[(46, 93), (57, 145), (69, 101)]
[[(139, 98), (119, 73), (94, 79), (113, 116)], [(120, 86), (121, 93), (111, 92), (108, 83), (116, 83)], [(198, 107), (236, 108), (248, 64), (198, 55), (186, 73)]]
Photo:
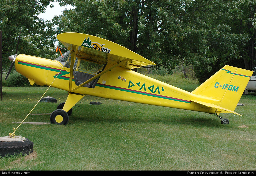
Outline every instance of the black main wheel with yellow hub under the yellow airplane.
[(67, 125), (68, 119), (68, 113), (62, 109), (56, 109), (50, 116), (51, 123), (57, 125)]

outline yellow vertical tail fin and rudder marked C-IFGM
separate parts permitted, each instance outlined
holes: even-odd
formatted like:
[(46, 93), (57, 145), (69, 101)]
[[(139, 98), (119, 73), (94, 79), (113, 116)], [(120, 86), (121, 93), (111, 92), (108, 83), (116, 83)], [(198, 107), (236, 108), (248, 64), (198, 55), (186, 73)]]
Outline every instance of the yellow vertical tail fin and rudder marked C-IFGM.
[(217, 106), (234, 111), (252, 71), (225, 65), (192, 93), (219, 100)]

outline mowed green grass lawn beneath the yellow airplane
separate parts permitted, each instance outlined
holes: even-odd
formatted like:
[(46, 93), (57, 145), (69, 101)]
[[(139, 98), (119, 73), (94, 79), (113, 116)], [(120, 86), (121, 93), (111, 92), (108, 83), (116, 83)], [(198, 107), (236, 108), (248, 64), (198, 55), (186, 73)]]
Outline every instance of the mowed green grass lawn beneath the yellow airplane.
[[(3, 88), (0, 137), (17, 128), (12, 122), (21, 122), (46, 89)], [(32, 113), (51, 113), (67, 92), (51, 96), (57, 104), (39, 103)], [(223, 114), (230, 123), (221, 125), (212, 114), (85, 96), (66, 126), (22, 124), (15, 134), (34, 142), (34, 152), (1, 158), (0, 170), (255, 170), (255, 99), (242, 96), (245, 106), (235, 111), (243, 116)], [(29, 115), (25, 122), (50, 119)]]

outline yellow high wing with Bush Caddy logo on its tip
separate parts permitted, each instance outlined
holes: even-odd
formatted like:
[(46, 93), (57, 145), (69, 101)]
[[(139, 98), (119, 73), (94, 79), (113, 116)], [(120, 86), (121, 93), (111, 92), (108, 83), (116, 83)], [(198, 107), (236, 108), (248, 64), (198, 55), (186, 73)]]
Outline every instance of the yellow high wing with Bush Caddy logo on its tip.
[(134, 69), (146, 65), (156, 65), (139, 54), (114, 42), (88, 34), (67, 32), (57, 35), (57, 39), (70, 51), (74, 51), (75, 57), (99, 64), (111, 63)]

